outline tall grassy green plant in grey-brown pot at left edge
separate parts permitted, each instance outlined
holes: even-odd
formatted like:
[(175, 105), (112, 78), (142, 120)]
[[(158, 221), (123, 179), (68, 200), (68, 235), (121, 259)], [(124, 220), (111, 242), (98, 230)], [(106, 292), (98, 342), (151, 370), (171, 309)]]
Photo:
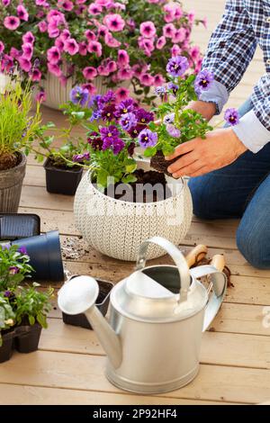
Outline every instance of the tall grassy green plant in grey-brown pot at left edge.
[(31, 112), (31, 88), (19, 80), (0, 93), (0, 211), (17, 212), (25, 175), (26, 155), (40, 124), (40, 103)]

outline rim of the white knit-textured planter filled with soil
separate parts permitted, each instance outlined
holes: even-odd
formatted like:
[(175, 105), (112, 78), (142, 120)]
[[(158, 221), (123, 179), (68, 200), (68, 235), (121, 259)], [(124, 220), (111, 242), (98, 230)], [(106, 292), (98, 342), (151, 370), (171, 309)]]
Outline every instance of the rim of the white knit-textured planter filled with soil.
[[(150, 166), (150, 161), (149, 160), (147, 160), (147, 159), (144, 159), (144, 158), (136, 158), (136, 161), (137, 162), (140, 162), (140, 163), (144, 163), (144, 164), (148, 164), (148, 166)], [(178, 195), (179, 195), (179, 193), (177, 193), (177, 195), (173, 195), (172, 194), (172, 196), (170, 196), (170, 197), (168, 197), (168, 198), (166, 198), (166, 200), (159, 200), (159, 201), (157, 201), (157, 202), (124, 202), (123, 200), (118, 200), (118, 199), (116, 199), (116, 198), (112, 198), (112, 197), (109, 197), (108, 195), (105, 195), (104, 193), (102, 193), (101, 191), (99, 191), (95, 186), (94, 186), (94, 184), (92, 183), (92, 175), (93, 175), (93, 171), (91, 171), (91, 170), (88, 170), (87, 171), (87, 180), (88, 180), (88, 183), (89, 184), (91, 184), (92, 185), (92, 187), (93, 187), (93, 190), (94, 190), (94, 193), (96, 194), (96, 195), (99, 195), (100, 197), (103, 197), (104, 199), (106, 199), (107, 201), (110, 201), (110, 202), (116, 202), (116, 203), (121, 203), (121, 204), (125, 204), (125, 206), (126, 207), (130, 207), (130, 206), (137, 206), (137, 207), (144, 207), (144, 208), (148, 208), (150, 205), (151, 206), (156, 206), (157, 207), (157, 205), (158, 204), (161, 204), (161, 203), (166, 203), (166, 202), (172, 202), (173, 200), (174, 200), (174, 198), (175, 197), (177, 197)], [(172, 176), (167, 176), (167, 177), (169, 177), (169, 178), (171, 178), (171, 179), (174, 179)], [(175, 180), (175, 184), (182, 184), (182, 189), (181, 189), (181, 193), (183, 192), (183, 190), (184, 190), (184, 180), (182, 179), (182, 178), (179, 178), (179, 179), (174, 179)]]

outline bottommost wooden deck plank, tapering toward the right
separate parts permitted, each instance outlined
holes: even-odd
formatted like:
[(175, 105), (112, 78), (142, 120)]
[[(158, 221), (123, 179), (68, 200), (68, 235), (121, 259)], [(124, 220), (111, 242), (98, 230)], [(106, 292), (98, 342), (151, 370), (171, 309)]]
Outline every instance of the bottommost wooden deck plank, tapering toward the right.
[[(220, 405), (216, 401), (181, 400), (127, 392), (109, 393), (40, 388), (0, 383), (0, 405)], [(229, 405), (229, 402), (221, 402)], [(90, 413), (89, 413), (90, 416)]]

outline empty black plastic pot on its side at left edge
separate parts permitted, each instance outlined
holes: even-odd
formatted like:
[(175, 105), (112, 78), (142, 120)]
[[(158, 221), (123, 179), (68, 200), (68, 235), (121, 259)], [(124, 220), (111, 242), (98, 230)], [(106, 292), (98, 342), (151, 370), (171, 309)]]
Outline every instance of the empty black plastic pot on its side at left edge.
[(40, 216), (37, 214), (0, 214), (0, 239), (13, 241), (40, 235)]

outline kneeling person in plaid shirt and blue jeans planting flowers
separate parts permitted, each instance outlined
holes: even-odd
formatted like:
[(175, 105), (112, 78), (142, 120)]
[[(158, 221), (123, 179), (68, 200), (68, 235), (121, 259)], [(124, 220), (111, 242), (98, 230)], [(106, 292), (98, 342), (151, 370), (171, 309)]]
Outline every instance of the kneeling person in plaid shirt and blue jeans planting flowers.
[(270, 269), (270, 0), (227, 0), (202, 63), (215, 81), (191, 107), (210, 120), (227, 103), (257, 44), (266, 75), (240, 108), (234, 127), (213, 130), (175, 149), (168, 169), (192, 176), (194, 213), (202, 219), (241, 218), (237, 243), (247, 261)]

